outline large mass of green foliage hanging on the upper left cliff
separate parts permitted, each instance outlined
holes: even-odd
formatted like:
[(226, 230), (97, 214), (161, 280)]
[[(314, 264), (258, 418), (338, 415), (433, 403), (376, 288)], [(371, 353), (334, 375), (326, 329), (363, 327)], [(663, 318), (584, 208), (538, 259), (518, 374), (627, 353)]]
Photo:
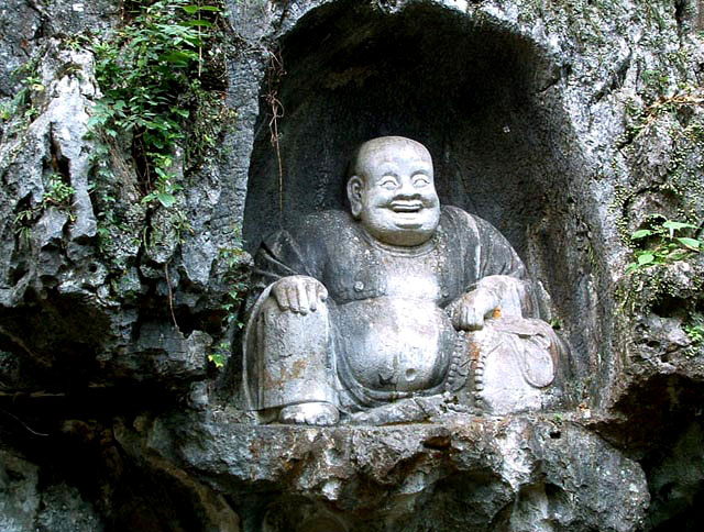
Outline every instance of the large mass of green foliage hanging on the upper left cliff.
[(215, 146), (212, 114), (221, 112), (222, 93), (204, 80), (217, 77), (208, 68), (221, 8), (215, 0), (138, 0), (128, 8), (131, 20), (92, 43), (103, 97), (89, 125), (107, 142), (130, 140), (144, 201), (168, 208), (180, 188), (177, 148), (204, 157), (204, 144)]

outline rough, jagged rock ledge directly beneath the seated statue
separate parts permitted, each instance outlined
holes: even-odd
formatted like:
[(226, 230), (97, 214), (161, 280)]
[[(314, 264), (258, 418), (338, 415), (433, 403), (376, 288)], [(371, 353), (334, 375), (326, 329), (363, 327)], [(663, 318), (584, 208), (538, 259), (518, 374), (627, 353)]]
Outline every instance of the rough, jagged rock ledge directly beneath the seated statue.
[[(169, 463), (228, 492), (243, 530), (627, 531), (645, 475), (598, 436), (556, 418), (446, 415), (330, 429), (175, 413), (116, 436), (148, 467)], [(135, 448), (133, 445), (139, 445)]]

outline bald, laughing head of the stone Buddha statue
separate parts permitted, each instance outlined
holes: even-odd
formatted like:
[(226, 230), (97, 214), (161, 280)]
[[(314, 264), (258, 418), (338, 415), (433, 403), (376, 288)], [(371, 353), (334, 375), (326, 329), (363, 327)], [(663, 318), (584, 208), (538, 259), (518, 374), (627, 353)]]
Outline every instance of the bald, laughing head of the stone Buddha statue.
[(402, 136), (362, 144), (348, 198), (352, 215), (385, 244), (420, 245), (440, 220), (430, 154), (422, 144)]

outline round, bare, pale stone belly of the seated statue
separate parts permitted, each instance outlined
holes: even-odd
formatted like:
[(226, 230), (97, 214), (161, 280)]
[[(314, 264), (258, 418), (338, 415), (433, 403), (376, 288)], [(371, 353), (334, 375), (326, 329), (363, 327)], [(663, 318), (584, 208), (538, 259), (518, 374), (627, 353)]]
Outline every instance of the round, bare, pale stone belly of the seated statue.
[(420, 391), (442, 383), (455, 343), (432, 301), (376, 298), (337, 309), (337, 355), (374, 390)]

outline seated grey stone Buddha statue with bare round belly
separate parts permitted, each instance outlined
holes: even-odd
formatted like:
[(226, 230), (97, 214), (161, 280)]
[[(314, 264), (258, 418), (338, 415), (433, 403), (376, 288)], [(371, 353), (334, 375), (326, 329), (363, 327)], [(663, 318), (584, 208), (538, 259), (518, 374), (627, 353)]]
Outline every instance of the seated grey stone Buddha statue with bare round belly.
[(440, 207), (418, 142), (365, 142), (350, 174), (349, 213), (302, 218), (255, 256), (250, 408), (327, 425), (441, 395), (497, 414), (547, 407), (566, 352), (506, 239)]

